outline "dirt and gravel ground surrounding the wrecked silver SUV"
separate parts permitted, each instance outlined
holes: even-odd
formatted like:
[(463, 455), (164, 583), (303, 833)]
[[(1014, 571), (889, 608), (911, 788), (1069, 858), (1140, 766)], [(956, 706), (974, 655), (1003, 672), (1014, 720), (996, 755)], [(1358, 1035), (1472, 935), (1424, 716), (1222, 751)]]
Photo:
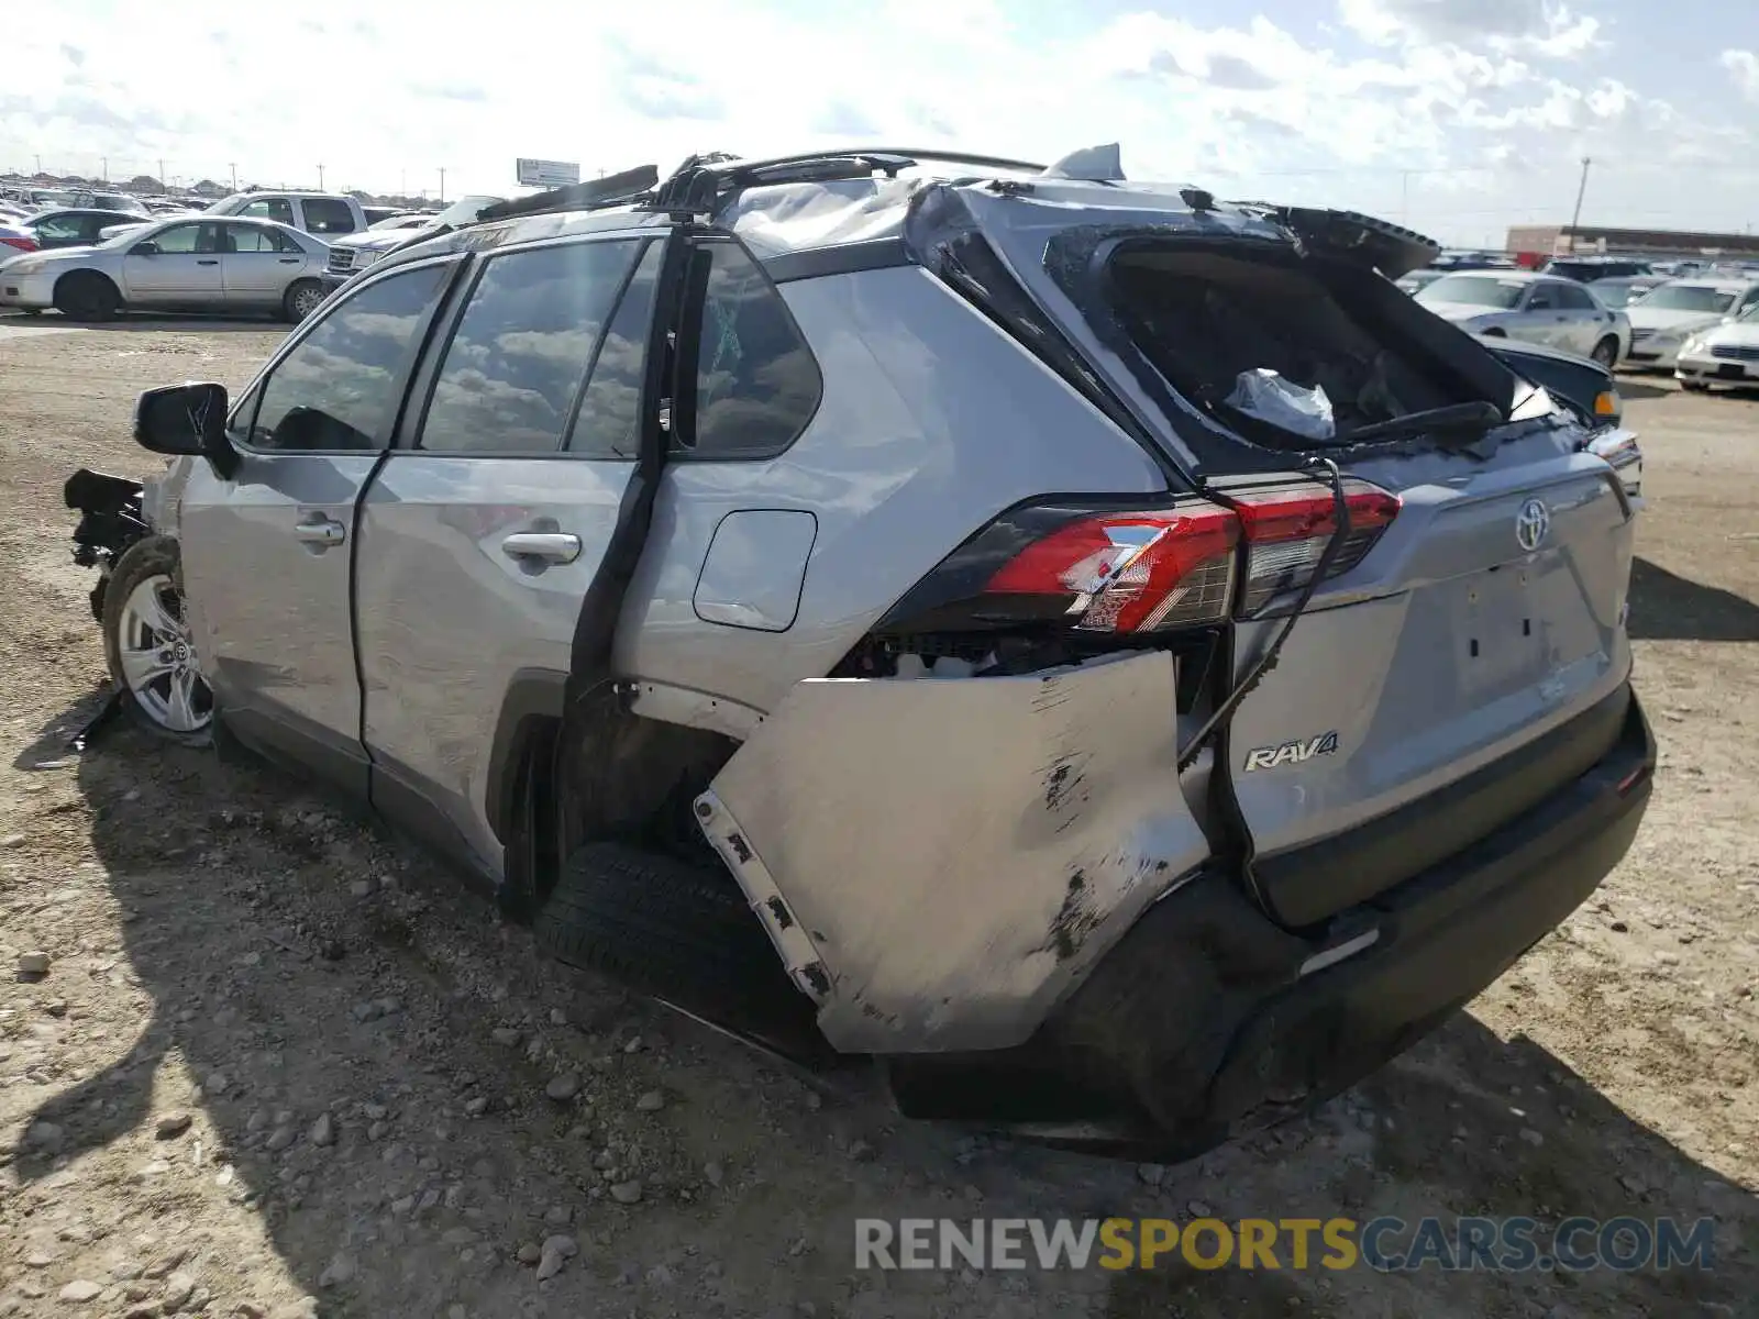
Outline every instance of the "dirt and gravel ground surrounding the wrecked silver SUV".
[[(1629, 390), (1662, 762), (1624, 867), (1314, 1120), (1159, 1170), (807, 1089), (267, 770), (67, 753), (104, 663), (62, 478), (155, 470), (135, 390), (273, 343), (0, 331), (0, 1315), (1759, 1314), (1759, 399)], [(858, 1215), (1198, 1212), (1713, 1215), (1717, 1268), (853, 1268)]]

